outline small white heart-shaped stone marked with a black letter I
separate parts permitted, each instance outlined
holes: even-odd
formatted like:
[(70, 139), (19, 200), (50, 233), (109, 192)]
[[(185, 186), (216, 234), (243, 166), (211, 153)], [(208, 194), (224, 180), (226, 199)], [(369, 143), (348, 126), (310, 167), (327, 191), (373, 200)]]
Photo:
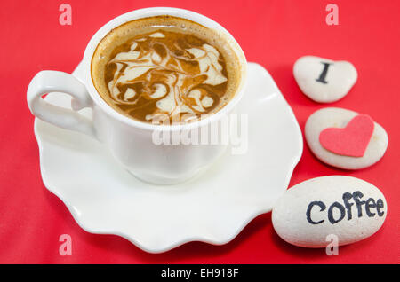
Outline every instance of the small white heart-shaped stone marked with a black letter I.
[(298, 59), (293, 66), (293, 75), (300, 90), (319, 103), (343, 98), (357, 80), (356, 67), (350, 62), (315, 56)]

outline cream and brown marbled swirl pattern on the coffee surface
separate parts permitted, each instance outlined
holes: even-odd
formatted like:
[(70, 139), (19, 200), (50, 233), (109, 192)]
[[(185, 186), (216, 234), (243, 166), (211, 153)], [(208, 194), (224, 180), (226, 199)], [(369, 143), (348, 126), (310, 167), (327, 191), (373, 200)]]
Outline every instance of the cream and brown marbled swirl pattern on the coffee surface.
[(198, 117), (220, 103), (228, 81), (220, 52), (193, 35), (176, 38), (164, 30), (141, 35), (109, 60), (107, 85), (116, 105), (135, 112), (154, 103), (144, 116), (150, 121), (157, 114)]

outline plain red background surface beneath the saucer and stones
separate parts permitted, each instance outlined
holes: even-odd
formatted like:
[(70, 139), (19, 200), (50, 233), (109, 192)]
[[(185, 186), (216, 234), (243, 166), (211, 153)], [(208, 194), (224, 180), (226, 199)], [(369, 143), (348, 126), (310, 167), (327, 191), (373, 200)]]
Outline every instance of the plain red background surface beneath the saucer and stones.
[[(325, 24), (325, 7), (339, 6), (339, 26)], [(72, 6), (72, 26), (60, 26), (59, 6)], [(375, 184), (388, 200), (378, 233), (340, 247), (293, 247), (274, 232), (270, 214), (260, 215), (225, 246), (188, 243), (150, 255), (114, 235), (82, 230), (42, 182), (26, 103), (28, 82), (43, 69), (72, 72), (86, 43), (108, 20), (149, 6), (186, 8), (217, 20), (241, 44), (249, 61), (266, 67), (304, 129), (321, 105), (301, 94), (292, 75), (300, 56), (347, 59), (358, 71), (347, 97), (329, 106), (370, 114), (388, 131), (388, 151), (377, 164), (354, 172), (325, 166), (305, 145), (291, 186), (311, 177), (341, 174)], [(5, 263), (399, 263), (400, 2), (339, 0), (276, 1), (2, 1), (0, 7), (0, 262)], [(72, 255), (59, 255), (59, 237), (72, 237)]]

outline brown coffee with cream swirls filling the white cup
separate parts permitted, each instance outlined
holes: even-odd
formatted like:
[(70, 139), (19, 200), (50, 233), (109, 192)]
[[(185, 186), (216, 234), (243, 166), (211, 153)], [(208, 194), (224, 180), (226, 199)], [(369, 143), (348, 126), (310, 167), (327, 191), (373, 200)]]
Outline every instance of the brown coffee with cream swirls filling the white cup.
[(106, 35), (92, 81), (109, 106), (138, 121), (196, 121), (236, 94), (240, 67), (224, 35), (172, 16), (132, 20)]

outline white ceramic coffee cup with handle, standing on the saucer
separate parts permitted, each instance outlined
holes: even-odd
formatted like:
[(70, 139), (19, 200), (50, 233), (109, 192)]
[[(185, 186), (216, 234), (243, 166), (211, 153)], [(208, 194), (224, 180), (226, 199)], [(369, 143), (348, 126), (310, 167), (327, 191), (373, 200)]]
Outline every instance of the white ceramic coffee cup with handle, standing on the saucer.
[[(159, 15), (192, 20), (226, 35), (231, 49), (236, 52), (242, 74), (235, 97), (231, 98), (219, 112), (188, 124), (154, 125), (135, 121), (116, 112), (95, 89), (91, 77), (91, 62), (100, 40), (110, 30), (127, 21)], [(41, 71), (36, 74), (29, 83), (27, 93), (28, 106), (32, 114), (63, 129), (76, 130), (98, 139), (107, 145), (124, 168), (134, 176), (152, 184), (177, 184), (186, 181), (208, 168), (226, 150), (226, 144), (156, 145), (153, 142), (155, 130), (169, 132), (172, 135), (173, 132), (193, 129), (200, 129), (201, 132), (202, 127), (214, 126), (220, 134), (227, 134), (226, 130), (220, 130), (220, 120), (228, 117), (243, 96), (247, 63), (242, 49), (233, 36), (217, 22), (196, 12), (176, 8), (156, 7), (127, 12), (109, 21), (92, 36), (84, 51), (81, 64), (84, 68), (84, 83), (71, 74), (58, 71)], [(49, 92), (64, 92), (70, 95), (73, 98), (72, 110), (53, 106), (41, 98)], [(76, 112), (84, 107), (92, 108), (92, 121)]]

